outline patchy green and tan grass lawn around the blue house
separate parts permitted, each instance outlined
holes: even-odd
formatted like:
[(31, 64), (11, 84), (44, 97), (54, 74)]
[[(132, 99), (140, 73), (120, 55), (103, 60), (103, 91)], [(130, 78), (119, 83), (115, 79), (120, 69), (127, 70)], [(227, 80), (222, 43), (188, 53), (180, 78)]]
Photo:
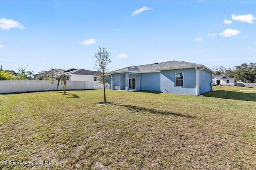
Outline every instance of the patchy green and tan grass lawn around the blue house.
[(255, 87), (214, 90), (2, 94), (0, 169), (256, 169)]

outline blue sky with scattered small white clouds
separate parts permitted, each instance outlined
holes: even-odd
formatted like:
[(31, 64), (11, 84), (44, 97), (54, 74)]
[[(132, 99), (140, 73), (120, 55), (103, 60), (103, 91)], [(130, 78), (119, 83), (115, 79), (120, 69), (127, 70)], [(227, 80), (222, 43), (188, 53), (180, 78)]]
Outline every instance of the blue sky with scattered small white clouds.
[(0, 1), (0, 63), (38, 73), (187, 61), (256, 62), (256, 1)]

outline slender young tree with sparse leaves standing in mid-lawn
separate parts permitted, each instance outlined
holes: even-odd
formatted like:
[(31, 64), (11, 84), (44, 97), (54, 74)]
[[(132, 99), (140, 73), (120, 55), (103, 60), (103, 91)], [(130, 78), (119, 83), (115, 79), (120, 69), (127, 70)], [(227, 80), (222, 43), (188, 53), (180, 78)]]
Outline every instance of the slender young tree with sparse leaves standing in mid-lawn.
[(108, 64), (111, 63), (111, 60), (109, 59), (109, 52), (106, 51), (106, 48), (102, 47), (100, 48), (97, 53), (94, 55), (94, 68), (98, 70), (98, 80), (103, 84), (104, 89), (104, 104), (106, 104), (106, 92), (105, 92), (105, 83), (108, 80), (107, 73), (109, 72)]

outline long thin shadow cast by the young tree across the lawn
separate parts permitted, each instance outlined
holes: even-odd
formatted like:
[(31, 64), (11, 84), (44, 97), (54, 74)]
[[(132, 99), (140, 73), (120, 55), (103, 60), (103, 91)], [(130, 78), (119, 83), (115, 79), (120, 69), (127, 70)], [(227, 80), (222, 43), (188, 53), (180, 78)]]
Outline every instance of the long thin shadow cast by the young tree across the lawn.
[(173, 113), (173, 112), (169, 112), (169, 111), (160, 111), (160, 110), (156, 110), (156, 109), (149, 109), (149, 108), (146, 108), (146, 107), (122, 105), (122, 104), (115, 104), (115, 103), (112, 103), (112, 104), (117, 105), (117, 106), (121, 106), (121, 107), (125, 107), (126, 109), (131, 110), (131, 111), (137, 111), (137, 112), (139, 112), (139, 111), (148, 111), (152, 114), (175, 115), (175, 116), (180, 116), (180, 117), (187, 117), (187, 118), (190, 118), (190, 119), (196, 118), (196, 116), (185, 115), (185, 114), (181, 114), (181, 113)]

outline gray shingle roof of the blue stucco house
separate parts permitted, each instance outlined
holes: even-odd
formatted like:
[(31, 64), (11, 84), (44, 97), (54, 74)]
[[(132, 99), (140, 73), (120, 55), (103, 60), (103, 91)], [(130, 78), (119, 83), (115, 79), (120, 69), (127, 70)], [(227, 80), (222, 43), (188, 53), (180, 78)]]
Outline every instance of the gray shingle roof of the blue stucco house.
[(153, 71), (162, 70), (165, 68), (176, 68), (176, 67), (178, 68), (178, 67), (186, 67), (186, 66), (202, 66), (202, 64), (188, 63), (185, 61), (167, 61), (162, 63), (145, 64), (140, 66), (129, 66), (129, 67), (121, 68), (119, 70), (112, 71), (112, 73), (125, 72), (125, 71), (153, 72)]

